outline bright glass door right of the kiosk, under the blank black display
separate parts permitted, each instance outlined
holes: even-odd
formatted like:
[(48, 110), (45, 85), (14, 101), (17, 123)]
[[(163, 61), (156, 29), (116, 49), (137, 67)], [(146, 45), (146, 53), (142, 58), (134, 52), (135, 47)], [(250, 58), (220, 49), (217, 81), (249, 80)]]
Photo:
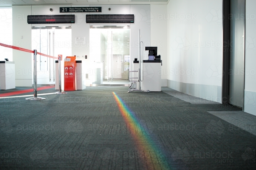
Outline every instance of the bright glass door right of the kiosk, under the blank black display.
[(100, 82), (95, 80), (97, 79), (95, 76), (93, 84), (129, 84), (129, 41), (129, 28), (92, 27), (90, 29), (90, 56), (95, 75), (98, 75), (97, 72), (102, 67), (100, 74), (103, 77), (103, 81)]

